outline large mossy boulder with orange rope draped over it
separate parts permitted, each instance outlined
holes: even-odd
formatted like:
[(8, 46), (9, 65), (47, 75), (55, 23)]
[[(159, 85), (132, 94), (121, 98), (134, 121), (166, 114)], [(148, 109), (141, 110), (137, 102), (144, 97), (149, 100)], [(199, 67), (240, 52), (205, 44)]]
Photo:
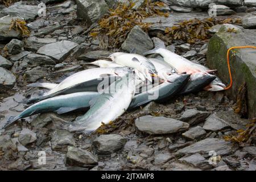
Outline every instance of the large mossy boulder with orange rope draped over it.
[[(229, 72), (227, 67), (226, 54), (233, 46), (256, 46), (256, 30), (241, 30), (228, 32), (220, 28), (209, 42), (207, 53), (207, 64), (210, 69), (217, 69), (218, 76), (229, 84)], [(226, 90), (228, 96), (236, 100), (238, 89), (246, 82), (249, 117), (256, 116), (256, 60), (255, 49), (236, 49), (236, 54), (231, 53), (230, 64), (233, 77), (233, 86)]]

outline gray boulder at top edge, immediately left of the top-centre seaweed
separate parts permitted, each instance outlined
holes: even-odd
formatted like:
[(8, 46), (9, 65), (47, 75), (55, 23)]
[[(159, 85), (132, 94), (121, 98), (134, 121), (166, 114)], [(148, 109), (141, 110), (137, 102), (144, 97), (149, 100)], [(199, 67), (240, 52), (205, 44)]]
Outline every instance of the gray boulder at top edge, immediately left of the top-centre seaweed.
[(106, 13), (108, 5), (104, 0), (76, 0), (77, 17), (85, 19), (88, 23), (97, 23)]

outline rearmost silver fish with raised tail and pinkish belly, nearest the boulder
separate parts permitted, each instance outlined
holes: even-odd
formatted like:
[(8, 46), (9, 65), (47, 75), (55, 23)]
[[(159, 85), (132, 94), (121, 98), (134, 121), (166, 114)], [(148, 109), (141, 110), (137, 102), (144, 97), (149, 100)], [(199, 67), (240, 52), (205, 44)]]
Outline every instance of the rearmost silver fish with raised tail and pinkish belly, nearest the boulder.
[[(213, 72), (213, 70), (209, 70), (207, 67), (204, 67), (203, 65), (193, 63), (192, 61), (189, 61), (185, 59), (185, 57), (179, 56), (174, 52), (169, 51), (164, 46), (164, 43), (162, 40), (158, 38), (152, 38), (154, 40), (155, 48), (151, 51), (147, 51), (144, 53), (144, 55), (152, 54), (152, 53), (159, 53), (164, 61), (166, 63), (170, 64), (172, 67), (174, 67), (178, 73), (184, 73), (192, 75), (193, 73), (197, 72), (204, 72), (204, 73), (210, 73)], [(213, 80), (206, 88), (205, 90), (208, 91), (220, 91), (224, 90), (225, 85), (220, 81), (220, 78), (216, 77), (216, 80)]]

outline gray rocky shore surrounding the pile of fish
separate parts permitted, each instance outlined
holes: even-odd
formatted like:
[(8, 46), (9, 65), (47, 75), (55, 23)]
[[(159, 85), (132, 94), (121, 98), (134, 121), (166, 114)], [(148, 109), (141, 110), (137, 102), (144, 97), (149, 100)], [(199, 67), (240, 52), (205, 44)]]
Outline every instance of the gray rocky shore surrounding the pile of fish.
[[(155, 36), (170, 51), (218, 69), (217, 75), (225, 84), (229, 83), (227, 49), (256, 45), (255, 0), (163, 0), (161, 6), (155, 7), (156, 14), (141, 19), (147, 30), (141, 24), (130, 27), (119, 46), (113, 46), (111, 36), (93, 32), (98, 31), (98, 22), (109, 9), (125, 1), (42, 2), (46, 4), (46, 16), (38, 15), (42, 10), (40, 1), (0, 5), (0, 129), (9, 117), (26, 108), (24, 99), (45, 91), (28, 88), (27, 84), (58, 83), (63, 77), (92, 68), (85, 63), (112, 52), (130, 52), (134, 48), (138, 53), (146, 52), (154, 48)], [(134, 1), (133, 5), (134, 10), (146, 6), (144, 0)], [(212, 12), (216, 15), (213, 18), (222, 23), (200, 29), (193, 40), (167, 35), (168, 28), (177, 23), (182, 26), (182, 22), (194, 18), (203, 21)], [(27, 30), (20, 28), (22, 22), (14, 22), (17, 18), (26, 21)], [(26, 35), (26, 31), (30, 34)], [(203, 31), (207, 35), (201, 39)], [(83, 114), (80, 111), (20, 119), (0, 130), (0, 170), (255, 171), (255, 53), (251, 49), (236, 52), (231, 90), (202, 91), (166, 103), (150, 102), (127, 111), (89, 137), (63, 129), (64, 123)], [(247, 84), (247, 95), (241, 98), (246, 100), (247, 114), (241, 118), (241, 113), (234, 112), (234, 105), (243, 82)], [(237, 131), (250, 133), (238, 140)], [(230, 139), (232, 136), (236, 137)], [(46, 163), (39, 162), (42, 156)]]

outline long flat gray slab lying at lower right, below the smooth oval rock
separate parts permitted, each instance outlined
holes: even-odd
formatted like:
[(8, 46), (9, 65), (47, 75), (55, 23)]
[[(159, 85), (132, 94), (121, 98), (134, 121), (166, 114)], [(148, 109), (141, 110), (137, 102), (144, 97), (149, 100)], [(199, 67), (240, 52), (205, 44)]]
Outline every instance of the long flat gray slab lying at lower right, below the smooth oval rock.
[(218, 138), (207, 138), (178, 150), (175, 155), (182, 156), (200, 153), (203, 156), (209, 156), (210, 151), (215, 151), (217, 155), (228, 155), (235, 151), (235, 149), (236, 147), (232, 142), (226, 142), (224, 139)]

